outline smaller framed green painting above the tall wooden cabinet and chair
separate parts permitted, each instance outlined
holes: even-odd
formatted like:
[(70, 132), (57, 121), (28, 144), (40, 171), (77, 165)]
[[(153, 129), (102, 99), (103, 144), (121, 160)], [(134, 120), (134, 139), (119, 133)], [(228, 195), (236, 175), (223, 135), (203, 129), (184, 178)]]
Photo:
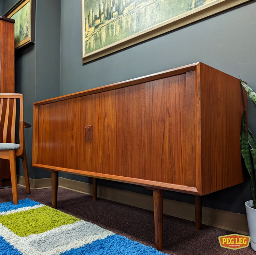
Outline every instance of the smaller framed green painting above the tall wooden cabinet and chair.
[(4, 16), (15, 20), (15, 49), (35, 42), (35, 0), (18, 1)]

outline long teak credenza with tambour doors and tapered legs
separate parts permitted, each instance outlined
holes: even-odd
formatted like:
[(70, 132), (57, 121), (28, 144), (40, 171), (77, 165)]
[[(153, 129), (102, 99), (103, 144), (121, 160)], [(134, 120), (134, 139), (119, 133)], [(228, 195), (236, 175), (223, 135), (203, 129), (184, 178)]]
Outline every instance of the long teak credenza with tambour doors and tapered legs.
[(240, 81), (201, 62), (34, 103), (33, 166), (153, 190), (156, 248), (162, 249), (163, 190), (201, 196), (245, 180)]

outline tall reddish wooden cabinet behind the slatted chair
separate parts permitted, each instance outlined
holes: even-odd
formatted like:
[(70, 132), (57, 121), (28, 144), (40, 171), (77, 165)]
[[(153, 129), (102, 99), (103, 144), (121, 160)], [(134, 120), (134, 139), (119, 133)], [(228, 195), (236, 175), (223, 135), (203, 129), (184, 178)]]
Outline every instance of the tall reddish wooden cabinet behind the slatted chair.
[[(0, 16), (0, 93), (14, 93), (14, 22), (14, 19)], [(0, 123), (0, 131), (2, 127)], [(0, 187), (10, 185), (9, 162), (1, 159)]]

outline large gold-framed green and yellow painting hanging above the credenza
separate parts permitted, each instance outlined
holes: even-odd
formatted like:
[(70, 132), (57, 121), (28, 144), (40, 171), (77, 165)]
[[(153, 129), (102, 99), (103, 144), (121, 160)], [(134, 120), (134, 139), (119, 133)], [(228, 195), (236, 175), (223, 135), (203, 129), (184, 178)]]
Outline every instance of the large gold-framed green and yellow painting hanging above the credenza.
[(82, 63), (251, 0), (82, 0)]

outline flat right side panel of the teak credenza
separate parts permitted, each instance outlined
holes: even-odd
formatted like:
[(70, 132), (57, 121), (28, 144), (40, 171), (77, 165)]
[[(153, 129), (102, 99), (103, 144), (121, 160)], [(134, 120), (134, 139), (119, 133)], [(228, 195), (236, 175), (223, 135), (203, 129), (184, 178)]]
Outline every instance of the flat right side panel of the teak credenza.
[(246, 92), (239, 79), (200, 63), (203, 194), (242, 183), (240, 129)]

